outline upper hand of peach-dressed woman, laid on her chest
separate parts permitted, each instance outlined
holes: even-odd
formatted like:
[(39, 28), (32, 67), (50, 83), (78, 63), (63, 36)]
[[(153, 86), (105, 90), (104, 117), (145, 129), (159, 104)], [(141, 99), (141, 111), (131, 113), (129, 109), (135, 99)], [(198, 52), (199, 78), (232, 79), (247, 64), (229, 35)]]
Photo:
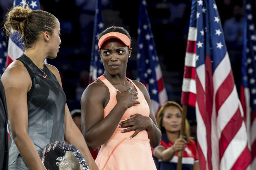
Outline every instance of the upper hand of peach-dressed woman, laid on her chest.
[(125, 106), (126, 108), (130, 108), (135, 104), (140, 104), (140, 102), (136, 99), (138, 99), (138, 92), (137, 91), (133, 91), (131, 92), (132, 87), (130, 87), (129, 89), (120, 92), (117, 89), (117, 103), (121, 103), (123, 106)]

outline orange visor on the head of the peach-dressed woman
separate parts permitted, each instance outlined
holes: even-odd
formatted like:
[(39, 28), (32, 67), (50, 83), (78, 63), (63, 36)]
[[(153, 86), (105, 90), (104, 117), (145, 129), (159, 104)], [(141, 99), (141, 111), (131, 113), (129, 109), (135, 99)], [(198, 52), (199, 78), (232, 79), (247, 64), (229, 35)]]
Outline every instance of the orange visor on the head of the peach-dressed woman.
[(126, 36), (120, 32), (109, 32), (109, 33), (105, 34), (104, 36), (100, 37), (100, 40), (98, 43), (99, 49), (106, 40), (111, 39), (111, 38), (119, 39), (125, 45), (129, 46), (129, 48), (131, 47), (131, 40), (128, 38), (128, 36)]

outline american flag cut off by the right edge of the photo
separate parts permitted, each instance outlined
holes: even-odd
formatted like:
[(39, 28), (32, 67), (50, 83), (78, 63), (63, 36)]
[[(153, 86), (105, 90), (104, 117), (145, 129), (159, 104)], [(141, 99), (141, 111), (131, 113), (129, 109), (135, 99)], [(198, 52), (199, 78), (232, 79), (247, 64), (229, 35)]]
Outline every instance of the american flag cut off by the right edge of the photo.
[(245, 2), (244, 48), (241, 67), (241, 104), (246, 117), (248, 144), (252, 151), (252, 170), (256, 170), (256, 34), (252, 19), (252, 0)]

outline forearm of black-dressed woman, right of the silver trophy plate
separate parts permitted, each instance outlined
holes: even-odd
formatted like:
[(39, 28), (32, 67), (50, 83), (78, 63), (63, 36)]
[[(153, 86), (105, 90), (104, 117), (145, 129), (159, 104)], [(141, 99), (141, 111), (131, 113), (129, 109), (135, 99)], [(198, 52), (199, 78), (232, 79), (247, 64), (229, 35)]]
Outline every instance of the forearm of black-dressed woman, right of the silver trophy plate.
[(76, 146), (78, 151), (85, 158), (85, 161), (87, 162), (90, 170), (98, 170), (98, 166), (95, 164), (95, 161), (93, 160), (93, 157), (91, 156), (91, 153), (87, 147), (85, 139), (82, 136), (82, 133), (80, 132), (78, 127), (76, 125), (73, 125), (73, 127), (70, 127), (69, 130), (70, 132), (65, 134), (65, 141), (69, 144), (73, 144)]

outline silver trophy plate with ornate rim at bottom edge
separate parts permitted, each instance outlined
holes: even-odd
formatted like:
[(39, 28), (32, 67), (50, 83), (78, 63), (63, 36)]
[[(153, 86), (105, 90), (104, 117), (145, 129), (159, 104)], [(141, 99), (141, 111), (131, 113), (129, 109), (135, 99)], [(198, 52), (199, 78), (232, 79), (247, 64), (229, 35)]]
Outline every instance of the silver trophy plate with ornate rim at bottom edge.
[(45, 147), (42, 162), (47, 170), (90, 170), (78, 149), (67, 142), (56, 141)]

